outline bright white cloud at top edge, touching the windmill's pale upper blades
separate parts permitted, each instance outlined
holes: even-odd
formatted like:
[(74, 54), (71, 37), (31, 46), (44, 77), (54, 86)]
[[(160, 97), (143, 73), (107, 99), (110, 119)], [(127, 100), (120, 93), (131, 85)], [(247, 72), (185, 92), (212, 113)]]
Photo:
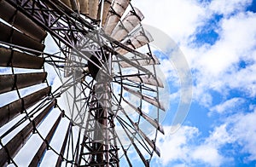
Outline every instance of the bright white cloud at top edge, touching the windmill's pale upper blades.
[[(145, 8), (145, 4), (151, 7)], [(188, 37), (201, 25), (201, 15), (205, 9), (195, 0), (141, 0), (133, 5), (142, 9), (143, 23), (159, 27), (173, 37), (176, 42)]]

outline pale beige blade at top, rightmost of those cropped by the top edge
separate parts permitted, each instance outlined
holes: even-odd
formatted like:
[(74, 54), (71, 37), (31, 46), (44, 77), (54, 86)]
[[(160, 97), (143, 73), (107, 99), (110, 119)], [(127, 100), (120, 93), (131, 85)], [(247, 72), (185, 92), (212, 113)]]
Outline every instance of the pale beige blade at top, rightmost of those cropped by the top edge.
[(118, 24), (122, 15), (125, 13), (125, 9), (128, 7), (131, 0), (114, 0), (112, 8), (108, 12), (105, 26), (103, 30), (106, 34), (110, 35), (113, 32), (114, 27)]

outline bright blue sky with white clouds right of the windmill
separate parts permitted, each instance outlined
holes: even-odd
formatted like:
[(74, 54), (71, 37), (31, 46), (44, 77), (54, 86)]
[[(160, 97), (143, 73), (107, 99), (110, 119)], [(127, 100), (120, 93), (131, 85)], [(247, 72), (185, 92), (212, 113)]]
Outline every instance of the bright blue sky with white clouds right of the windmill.
[[(255, 166), (256, 1), (140, 0), (132, 4), (177, 43), (191, 71), (189, 113), (175, 133), (172, 119), (180, 85), (162, 62), (171, 85), (171, 108), (159, 135), (161, 157), (152, 166)], [(170, 58), (172, 60), (172, 56)], [(164, 65), (163, 65), (164, 64)]]

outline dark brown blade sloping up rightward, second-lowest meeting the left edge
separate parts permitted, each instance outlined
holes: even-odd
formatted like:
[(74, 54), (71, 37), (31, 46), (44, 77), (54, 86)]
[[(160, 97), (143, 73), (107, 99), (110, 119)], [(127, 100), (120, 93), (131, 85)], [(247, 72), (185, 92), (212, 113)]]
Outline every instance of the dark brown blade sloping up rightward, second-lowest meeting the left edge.
[(13, 101), (8, 105), (0, 107), (0, 127), (18, 116), (21, 112), (23, 112), (24, 109), (32, 107), (32, 105), (34, 105), (36, 102), (46, 97), (49, 92), (50, 87), (40, 89), (30, 95), (26, 95), (17, 101)]

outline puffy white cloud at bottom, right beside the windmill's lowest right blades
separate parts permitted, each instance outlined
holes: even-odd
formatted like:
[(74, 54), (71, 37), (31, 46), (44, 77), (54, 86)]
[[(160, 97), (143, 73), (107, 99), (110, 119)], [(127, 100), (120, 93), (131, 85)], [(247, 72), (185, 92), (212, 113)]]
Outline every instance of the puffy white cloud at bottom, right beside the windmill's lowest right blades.
[[(166, 134), (172, 129), (171, 126), (164, 127)], [(211, 166), (218, 166), (227, 161), (228, 158), (224, 158), (219, 153), (219, 146), (227, 141), (230, 141), (227, 137), (224, 128), (218, 128), (212, 132), (205, 141), (200, 144), (196, 144), (200, 132), (197, 128), (191, 126), (182, 126), (173, 135), (160, 135), (157, 139), (157, 146), (160, 147), (161, 158), (157, 159), (158, 163), (163, 166), (168, 166), (175, 162), (182, 162), (185, 165), (198, 164), (210, 164)], [(225, 141), (222, 141), (226, 139)]]

